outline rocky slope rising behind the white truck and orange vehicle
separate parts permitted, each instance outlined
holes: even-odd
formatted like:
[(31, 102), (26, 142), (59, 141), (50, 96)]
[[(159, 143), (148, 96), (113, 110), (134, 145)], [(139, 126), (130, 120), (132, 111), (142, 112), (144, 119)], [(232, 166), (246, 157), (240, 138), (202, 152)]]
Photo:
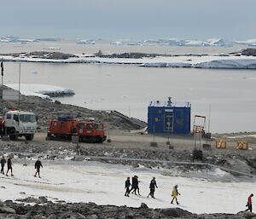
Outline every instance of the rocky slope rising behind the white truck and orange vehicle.
[[(61, 104), (60, 101), (52, 102), (36, 96), (21, 95), (20, 106), (18, 101), (3, 101), (0, 106), (0, 112), (5, 107), (19, 108), (20, 110), (36, 113), (38, 115), (38, 126), (42, 131), (47, 130), (51, 118), (56, 118), (61, 114), (68, 114), (73, 116), (73, 118), (80, 118), (82, 120), (95, 118), (96, 121), (101, 121), (108, 130), (136, 130), (139, 128), (136, 124), (128, 123), (125, 119), (119, 118), (113, 113)], [(145, 127), (147, 126), (146, 123), (143, 124), (145, 124)]]

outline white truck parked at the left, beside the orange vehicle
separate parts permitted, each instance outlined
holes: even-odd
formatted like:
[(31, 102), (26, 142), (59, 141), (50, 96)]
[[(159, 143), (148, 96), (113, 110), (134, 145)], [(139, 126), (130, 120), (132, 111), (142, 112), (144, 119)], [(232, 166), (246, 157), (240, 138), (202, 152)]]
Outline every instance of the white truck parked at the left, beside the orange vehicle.
[(0, 135), (9, 135), (10, 140), (25, 136), (31, 141), (38, 127), (38, 118), (32, 112), (9, 110), (0, 118)]

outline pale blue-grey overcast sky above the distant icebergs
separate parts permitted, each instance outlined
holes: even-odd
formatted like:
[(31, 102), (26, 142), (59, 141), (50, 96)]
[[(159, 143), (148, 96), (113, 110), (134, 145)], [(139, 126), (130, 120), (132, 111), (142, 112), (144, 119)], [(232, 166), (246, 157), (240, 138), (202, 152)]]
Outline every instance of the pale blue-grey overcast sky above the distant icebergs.
[(8, 0), (0, 36), (256, 38), (256, 0)]

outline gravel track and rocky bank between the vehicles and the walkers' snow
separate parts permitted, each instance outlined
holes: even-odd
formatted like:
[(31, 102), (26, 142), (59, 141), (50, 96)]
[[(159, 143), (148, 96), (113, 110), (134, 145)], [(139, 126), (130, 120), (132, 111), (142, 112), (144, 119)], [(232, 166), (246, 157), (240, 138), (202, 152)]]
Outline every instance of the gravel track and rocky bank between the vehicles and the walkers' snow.
[[(126, 164), (137, 167), (142, 164), (148, 168), (177, 168), (180, 172), (212, 169), (208, 165), (183, 164), (193, 162), (191, 154), (195, 148), (192, 138), (171, 139), (172, 147), (166, 145), (166, 138), (157, 136), (155, 141), (158, 147), (150, 147), (152, 136), (131, 134), (127, 132), (110, 132), (111, 142), (102, 144), (73, 144), (67, 141), (46, 141), (46, 133), (37, 133), (33, 141), (0, 141), (4, 153), (15, 153), (16, 158), (36, 158), (41, 156), (49, 160), (73, 159), (81, 161), (90, 158), (110, 164)], [(256, 146), (252, 150), (236, 150), (235, 144), (225, 149), (214, 147), (215, 141), (208, 141), (212, 145), (211, 150), (203, 151), (202, 162), (215, 164), (230, 170), (241, 171), (245, 174), (256, 174)], [(180, 163), (181, 164), (177, 164)], [(236, 175), (236, 173), (233, 173)]]

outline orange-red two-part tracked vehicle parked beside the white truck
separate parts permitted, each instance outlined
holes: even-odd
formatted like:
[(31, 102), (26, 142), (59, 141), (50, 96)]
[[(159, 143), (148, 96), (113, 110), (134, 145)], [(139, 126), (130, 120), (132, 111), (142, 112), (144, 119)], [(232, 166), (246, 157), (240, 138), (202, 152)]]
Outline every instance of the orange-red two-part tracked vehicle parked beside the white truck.
[(107, 138), (104, 125), (100, 122), (80, 121), (68, 115), (51, 119), (47, 139), (71, 141), (74, 135), (79, 136), (79, 141), (87, 143), (102, 143)]

